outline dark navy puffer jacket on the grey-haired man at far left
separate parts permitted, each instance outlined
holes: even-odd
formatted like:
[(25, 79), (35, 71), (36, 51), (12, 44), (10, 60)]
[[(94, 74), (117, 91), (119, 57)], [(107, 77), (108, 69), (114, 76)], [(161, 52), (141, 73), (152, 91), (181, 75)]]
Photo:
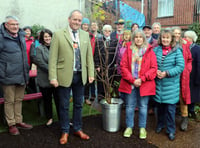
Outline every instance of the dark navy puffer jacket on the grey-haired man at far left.
[(26, 54), (25, 33), (19, 30), (18, 37), (11, 37), (0, 26), (0, 84), (25, 85), (29, 79), (29, 66)]

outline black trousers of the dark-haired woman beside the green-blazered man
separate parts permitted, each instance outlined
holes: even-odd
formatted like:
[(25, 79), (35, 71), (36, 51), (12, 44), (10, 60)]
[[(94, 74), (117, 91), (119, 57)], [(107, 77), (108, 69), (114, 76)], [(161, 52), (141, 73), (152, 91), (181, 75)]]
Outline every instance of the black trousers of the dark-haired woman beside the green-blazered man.
[(52, 98), (54, 98), (54, 102), (56, 105), (57, 116), (59, 119), (59, 97), (54, 87), (40, 87), (40, 91), (42, 92), (43, 100), (44, 100), (44, 110), (47, 119), (51, 119), (53, 116), (52, 110)]

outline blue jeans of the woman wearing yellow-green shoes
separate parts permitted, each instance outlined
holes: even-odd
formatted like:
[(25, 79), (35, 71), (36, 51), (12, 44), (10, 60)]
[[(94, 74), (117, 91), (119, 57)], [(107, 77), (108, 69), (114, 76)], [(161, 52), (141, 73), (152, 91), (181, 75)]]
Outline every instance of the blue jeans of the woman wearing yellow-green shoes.
[(132, 89), (131, 94), (125, 94), (126, 105), (126, 126), (134, 127), (135, 107), (139, 108), (139, 127), (146, 128), (147, 108), (149, 96), (140, 96), (139, 88)]

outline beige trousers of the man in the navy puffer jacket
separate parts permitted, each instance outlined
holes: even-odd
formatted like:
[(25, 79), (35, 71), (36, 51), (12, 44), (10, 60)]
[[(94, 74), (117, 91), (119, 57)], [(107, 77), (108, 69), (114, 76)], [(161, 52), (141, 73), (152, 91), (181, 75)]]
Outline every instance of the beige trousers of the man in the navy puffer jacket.
[(2, 85), (4, 93), (4, 112), (8, 126), (21, 123), (22, 100), (24, 98), (25, 85)]

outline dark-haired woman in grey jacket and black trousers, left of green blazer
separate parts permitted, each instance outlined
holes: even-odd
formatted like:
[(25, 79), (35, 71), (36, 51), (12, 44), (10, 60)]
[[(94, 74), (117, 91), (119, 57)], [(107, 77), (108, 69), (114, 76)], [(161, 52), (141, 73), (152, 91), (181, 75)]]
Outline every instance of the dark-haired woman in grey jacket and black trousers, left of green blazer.
[(47, 126), (51, 125), (53, 122), (52, 118), (52, 95), (54, 98), (54, 102), (56, 104), (57, 115), (59, 117), (58, 111), (58, 95), (56, 93), (56, 88), (52, 87), (48, 80), (48, 59), (49, 59), (49, 48), (52, 38), (52, 32), (48, 29), (44, 29), (40, 33), (40, 46), (36, 48), (36, 60), (35, 64), (37, 65), (37, 78), (38, 85), (40, 87), (40, 91), (42, 92), (43, 100), (44, 100), (44, 109), (46, 113), (46, 117), (48, 122)]

